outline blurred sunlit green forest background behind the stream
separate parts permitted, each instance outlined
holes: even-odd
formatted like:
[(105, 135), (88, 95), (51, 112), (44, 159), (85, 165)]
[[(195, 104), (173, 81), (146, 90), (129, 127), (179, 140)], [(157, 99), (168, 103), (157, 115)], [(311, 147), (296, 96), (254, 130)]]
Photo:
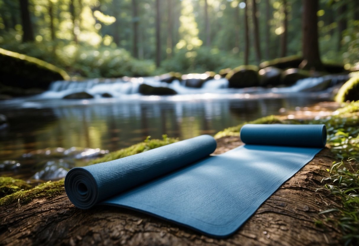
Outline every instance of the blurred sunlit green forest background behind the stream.
[(83, 77), (218, 72), (308, 54), (349, 69), (359, 61), (359, 8), (350, 0), (1, 0), (0, 47)]

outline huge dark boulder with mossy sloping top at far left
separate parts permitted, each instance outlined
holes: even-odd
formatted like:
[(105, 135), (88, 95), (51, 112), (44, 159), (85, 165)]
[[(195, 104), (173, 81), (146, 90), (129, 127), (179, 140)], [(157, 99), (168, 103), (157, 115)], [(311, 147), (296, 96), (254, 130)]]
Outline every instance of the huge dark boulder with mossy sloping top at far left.
[(50, 63), (2, 48), (0, 64), (3, 85), (48, 89), (52, 81), (70, 79), (64, 70)]

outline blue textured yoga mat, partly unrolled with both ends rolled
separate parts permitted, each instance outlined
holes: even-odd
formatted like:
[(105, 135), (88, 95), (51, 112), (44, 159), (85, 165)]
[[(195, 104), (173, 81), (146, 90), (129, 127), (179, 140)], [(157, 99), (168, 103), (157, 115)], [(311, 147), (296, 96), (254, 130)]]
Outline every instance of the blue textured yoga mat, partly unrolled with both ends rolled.
[(246, 145), (217, 156), (202, 135), (122, 159), (71, 169), (65, 190), (76, 207), (139, 210), (225, 237), (234, 233), (325, 146), (324, 125), (254, 125)]

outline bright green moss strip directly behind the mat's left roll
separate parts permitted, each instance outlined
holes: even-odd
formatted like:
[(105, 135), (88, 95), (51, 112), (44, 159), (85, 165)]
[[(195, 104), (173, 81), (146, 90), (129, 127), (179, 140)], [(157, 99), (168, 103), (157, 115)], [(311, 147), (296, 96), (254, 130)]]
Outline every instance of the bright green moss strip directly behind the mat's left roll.
[(149, 139), (149, 137), (147, 137), (147, 139), (144, 142), (137, 143), (128, 148), (123, 148), (121, 150), (108, 153), (107, 155), (105, 155), (101, 158), (90, 161), (89, 165), (120, 159), (120, 158), (123, 158), (126, 156), (135, 155), (135, 154), (147, 151), (147, 150), (151, 150), (151, 149), (158, 148), (158, 147), (161, 147), (164, 145), (168, 145), (170, 143), (178, 142), (178, 138), (169, 138), (165, 134), (162, 135), (162, 137), (163, 137), (162, 140), (161, 139)]

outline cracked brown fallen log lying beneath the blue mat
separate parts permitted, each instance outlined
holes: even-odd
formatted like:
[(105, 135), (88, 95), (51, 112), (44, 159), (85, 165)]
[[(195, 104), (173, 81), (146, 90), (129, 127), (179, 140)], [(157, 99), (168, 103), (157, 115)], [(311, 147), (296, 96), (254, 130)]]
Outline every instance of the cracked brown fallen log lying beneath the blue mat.
[[(238, 137), (218, 139), (215, 153), (240, 145)], [(318, 212), (337, 206), (326, 191), (316, 192), (334, 156), (327, 148), (286, 181), (234, 235), (203, 236), (132, 210), (75, 208), (65, 191), (0, 207), (0, 245), (338, 245), (340, 232), (317, 227)]]

